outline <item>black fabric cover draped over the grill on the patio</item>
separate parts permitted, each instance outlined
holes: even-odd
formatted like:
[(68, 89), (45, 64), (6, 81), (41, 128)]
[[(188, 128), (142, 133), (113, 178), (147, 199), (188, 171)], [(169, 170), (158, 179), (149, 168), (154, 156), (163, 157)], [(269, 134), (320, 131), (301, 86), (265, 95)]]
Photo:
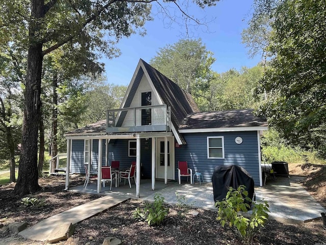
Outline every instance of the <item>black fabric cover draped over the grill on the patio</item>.
[[(248, 191), (248, 197), (251, 199), (254, 197), (254, 179), (243, 167), (236, 165), (215, 167), (212, 176), (212, 184), (214, 202), (222, 201), (226, 197), (229, 186), (236, 189), (239, 185), (245, 185), (246, 190)], [(249, 202), (246, 203), (251, 205)]]

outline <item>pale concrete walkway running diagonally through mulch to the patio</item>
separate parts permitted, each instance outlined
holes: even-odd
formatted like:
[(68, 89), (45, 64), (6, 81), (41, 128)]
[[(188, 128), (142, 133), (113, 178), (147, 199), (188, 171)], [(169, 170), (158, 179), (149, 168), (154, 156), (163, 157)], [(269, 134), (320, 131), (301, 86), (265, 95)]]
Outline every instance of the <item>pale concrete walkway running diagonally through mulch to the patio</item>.
[(105, 197), (46, 218), (31, 228), (19, 232), (18, 235), (30, 240), (45, 241), (51, 231), (57, 226), (64, 223), (76, 224), (128, 199), (129, 197), (124, 195), (114, 197), (106, 195)]

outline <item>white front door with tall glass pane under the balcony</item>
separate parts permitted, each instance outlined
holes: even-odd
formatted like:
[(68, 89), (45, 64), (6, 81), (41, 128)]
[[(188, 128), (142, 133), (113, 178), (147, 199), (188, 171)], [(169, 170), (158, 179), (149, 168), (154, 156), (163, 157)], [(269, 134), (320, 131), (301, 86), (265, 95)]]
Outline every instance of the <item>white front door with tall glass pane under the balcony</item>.
[[(158, 138), (156, 144), (156, 178), (164, 179), (165, 142)], [(168, 180), (174, 180), (174, 139), (168, 138)]]

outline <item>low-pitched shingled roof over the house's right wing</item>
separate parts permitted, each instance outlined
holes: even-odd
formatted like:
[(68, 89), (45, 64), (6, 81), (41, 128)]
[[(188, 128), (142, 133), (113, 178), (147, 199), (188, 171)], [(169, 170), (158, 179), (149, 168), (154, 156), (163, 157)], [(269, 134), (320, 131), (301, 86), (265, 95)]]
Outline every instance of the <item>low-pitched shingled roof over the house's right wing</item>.
[(266, 118), (257, 117), (253, 109), (199, 112), (188, 115), (181, 129), (267, 127)]

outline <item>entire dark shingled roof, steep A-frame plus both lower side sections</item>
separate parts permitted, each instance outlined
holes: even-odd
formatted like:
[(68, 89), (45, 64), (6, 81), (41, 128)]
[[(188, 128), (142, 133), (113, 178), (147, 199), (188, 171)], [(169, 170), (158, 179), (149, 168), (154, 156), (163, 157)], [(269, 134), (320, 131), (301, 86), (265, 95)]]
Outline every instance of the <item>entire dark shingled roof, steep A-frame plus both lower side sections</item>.
[[(266, 118), (256, 117), (252, 109), (199, 112), (191, 94), (181, 89), (144, 60), (141, 59), (141, 62), (162, 102), (171, 107), (171, 121), (176, 127), (177, 133), (184, 144), (186, 144), (186, 142), (178, 130), (267, 127)], [(102, 120), (95, 124), (73, 130), (67, 134), (105, 133), (105, 127), (106, 120)]]

